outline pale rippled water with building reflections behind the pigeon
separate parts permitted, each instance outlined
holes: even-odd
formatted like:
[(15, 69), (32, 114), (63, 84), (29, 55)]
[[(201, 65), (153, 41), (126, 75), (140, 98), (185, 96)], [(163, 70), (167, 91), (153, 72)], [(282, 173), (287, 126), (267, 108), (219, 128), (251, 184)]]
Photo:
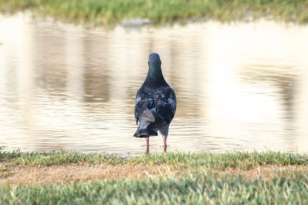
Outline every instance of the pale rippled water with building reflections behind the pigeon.
[(178, 100), (167, 151), (307, 151), (307, 36), (264, 20), (86, 30), (2, 16), (0, 146), (144, 153), (134, 100), (156, 52)]

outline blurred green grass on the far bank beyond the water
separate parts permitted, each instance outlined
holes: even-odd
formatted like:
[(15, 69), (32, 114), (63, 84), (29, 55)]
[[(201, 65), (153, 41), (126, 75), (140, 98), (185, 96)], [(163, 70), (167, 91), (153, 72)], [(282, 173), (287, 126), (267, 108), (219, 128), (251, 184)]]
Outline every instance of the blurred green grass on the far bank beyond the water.
[(0, 11), (29, 9), (34, 14), (92, 25), (148, 18), (154, 23), (216, 19), (222, 22), (272, 17), (308, 23), (307, 0), (0, 0)]

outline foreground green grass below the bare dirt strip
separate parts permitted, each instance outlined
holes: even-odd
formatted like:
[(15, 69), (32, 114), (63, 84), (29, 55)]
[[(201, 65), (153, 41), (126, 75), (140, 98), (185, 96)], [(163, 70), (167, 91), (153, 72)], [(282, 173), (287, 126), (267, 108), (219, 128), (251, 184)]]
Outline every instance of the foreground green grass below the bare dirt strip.
[(2, 205), (307, 205), (308, 177), (296, 172), (261, 177), (199, 173), (70, 184), (0, 186)]

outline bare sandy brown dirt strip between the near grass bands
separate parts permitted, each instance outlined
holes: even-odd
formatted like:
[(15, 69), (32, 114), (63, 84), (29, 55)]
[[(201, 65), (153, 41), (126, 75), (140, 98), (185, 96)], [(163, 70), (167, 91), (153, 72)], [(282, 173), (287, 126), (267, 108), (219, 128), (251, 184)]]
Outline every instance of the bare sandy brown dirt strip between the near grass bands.
[[(0, 165), (1, 166), (1, 165)], [(165, 176), (170, 172), (179, 174), (183, 172), (178, 166), (169, 166), (170, 171), (166, 166), (161, 165), (55, 165), (55, 166), (14, 166), (5, 171), (8, 175), (0, 176), (1, 184), (50, 184), (50, 183), (69, 183), (71, 181), (87, 181), (99, 179), (122, 179), (122, 178), (141, 178), (148, 176)], [(279, 173), (287, 177), (289, 171), (302, 171), (308, 173), (306, 165), (290, 165), (279, 166), (269, 165), (260, 166), (249, 170), (227, 170), (222, 173), (232, 175), (240, 174), (247, 179), (253, 180), (256, 177), (262, 176), (266, 180), (277, 176)]]

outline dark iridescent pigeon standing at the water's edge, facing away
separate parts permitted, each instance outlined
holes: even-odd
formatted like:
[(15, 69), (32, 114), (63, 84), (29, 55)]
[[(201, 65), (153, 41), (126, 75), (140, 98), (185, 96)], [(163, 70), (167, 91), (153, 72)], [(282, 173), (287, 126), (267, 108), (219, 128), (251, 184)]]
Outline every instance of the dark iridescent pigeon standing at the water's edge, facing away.
[(137, 91), (134, 110), (137, 125), (139, 121), (134, 137), (145, 138), (146, 154), (149, 153), (149, 137), (157, 136), (157, 131), (162, 135), (166, 151), (169, 125), (177, 107), (174, 89), (162, 75), (159, 55), (150, 54), (148, 64), (149, 72)]

